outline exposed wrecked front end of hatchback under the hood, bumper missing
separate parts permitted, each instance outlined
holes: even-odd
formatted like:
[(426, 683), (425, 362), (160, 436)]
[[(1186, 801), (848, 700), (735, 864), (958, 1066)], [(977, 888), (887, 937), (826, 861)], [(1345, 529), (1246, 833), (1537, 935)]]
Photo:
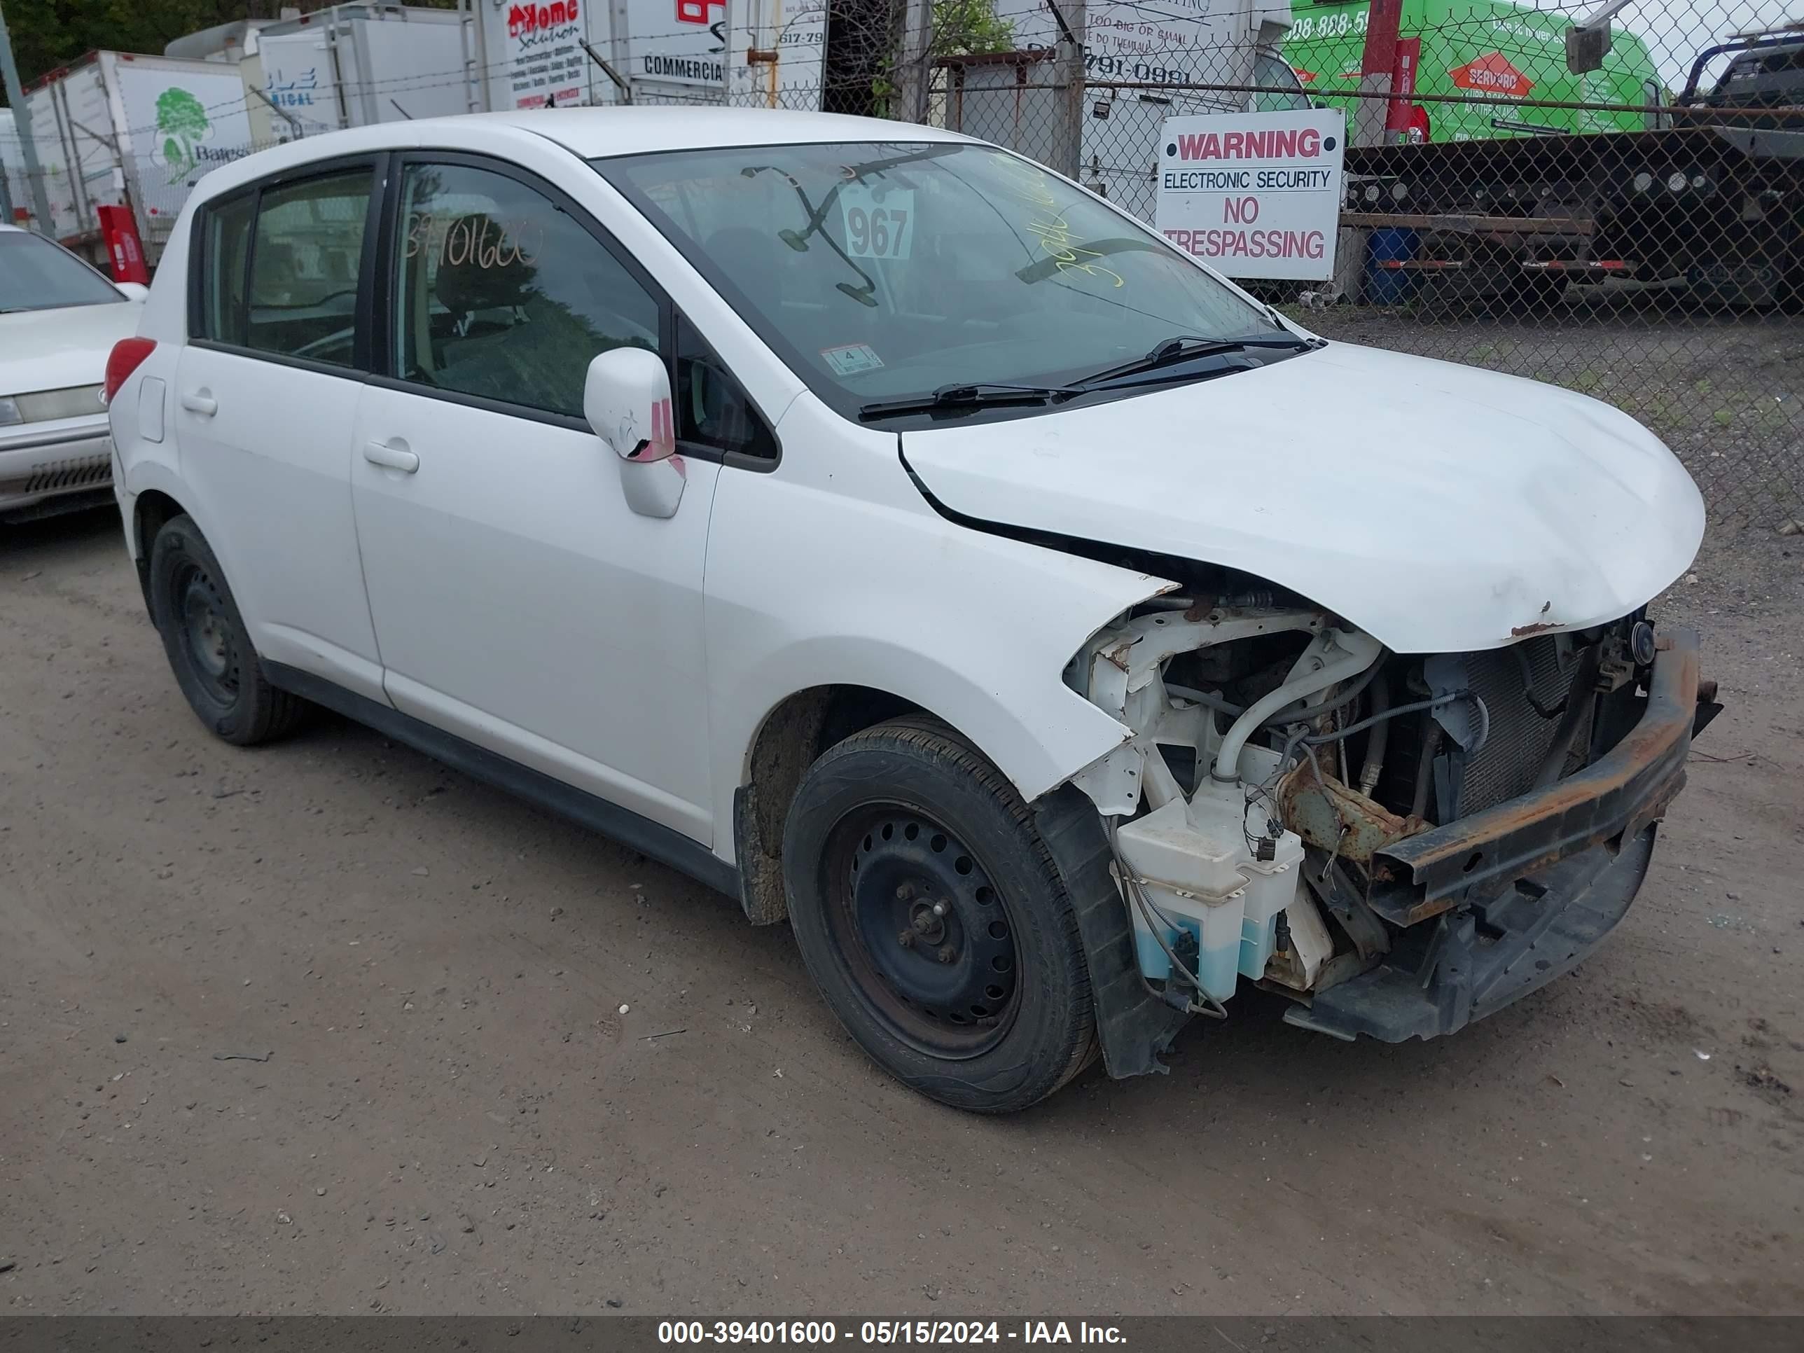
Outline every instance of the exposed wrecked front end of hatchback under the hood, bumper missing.
[(1144, 985), (1220, 1017), (1245, 978), (1290, 1023), (1385, 1041), (1591, 953), (1719, 709), (1696, 635), (1640, 612), (1396, 655), (1272, 590), (1149, 603), (1066, 680), (1133, 731), (1072, 783), (1104, 815)]

